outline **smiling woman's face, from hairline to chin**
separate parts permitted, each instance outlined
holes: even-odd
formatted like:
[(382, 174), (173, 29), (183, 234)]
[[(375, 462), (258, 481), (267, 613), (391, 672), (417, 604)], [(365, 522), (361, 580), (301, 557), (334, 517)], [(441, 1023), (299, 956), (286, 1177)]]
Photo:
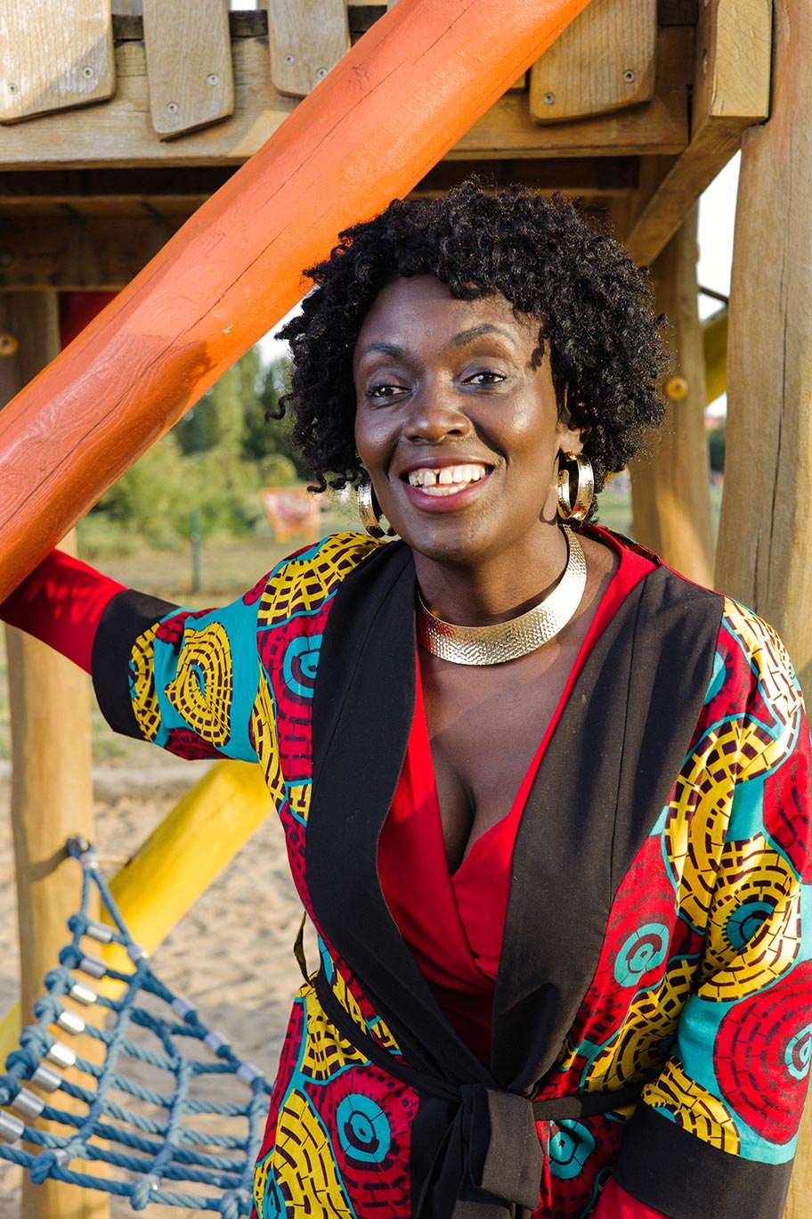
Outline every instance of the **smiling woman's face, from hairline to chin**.
[[(558, 416), (538, 323), (433, 275), (380, 293), (355, 345), (355, 445), (386, 517), (426, 557), (476, 562), (555, 519)], [(517, 553), (520, 551), (517, 550)]]

